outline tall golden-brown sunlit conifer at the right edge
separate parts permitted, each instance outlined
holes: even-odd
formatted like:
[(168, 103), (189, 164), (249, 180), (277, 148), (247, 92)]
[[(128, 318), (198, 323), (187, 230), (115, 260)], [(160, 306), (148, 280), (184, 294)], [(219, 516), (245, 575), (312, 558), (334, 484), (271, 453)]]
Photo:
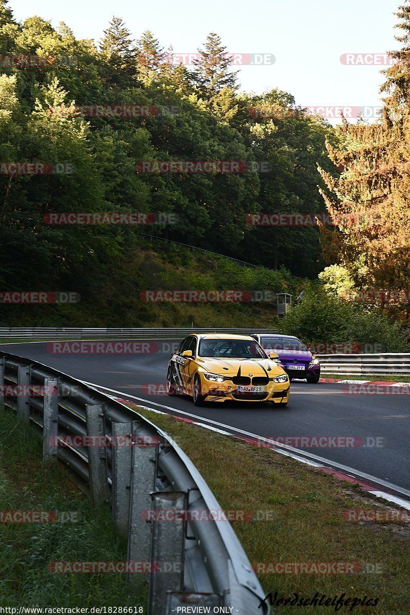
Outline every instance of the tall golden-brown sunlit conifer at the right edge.
[(338, 145), (328, 145), (340, 172), (321, 175), (326, 207), (336, 221), (322, 228), (329, 263), (349, 269), (357, 287), (403, 290), (410, 281), (410, 6), (397, 16), (403, 49), (390, 55), (400, 60), (384, 71), (382, 117), (375, 124), (338, 130)]

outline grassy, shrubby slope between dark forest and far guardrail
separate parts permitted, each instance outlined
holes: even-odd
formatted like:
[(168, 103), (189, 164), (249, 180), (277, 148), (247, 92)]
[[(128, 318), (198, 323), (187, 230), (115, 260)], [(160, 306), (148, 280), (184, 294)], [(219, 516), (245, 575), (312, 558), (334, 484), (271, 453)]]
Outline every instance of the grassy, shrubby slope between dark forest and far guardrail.
[(277, 310), (271, 302), (147, 303), (140, 293), (155, 289), (236, 289), (296, 295), (304, 284), (284, 269), (245, 268), (226, 258), (191, 253), (173, 244), (150, 245), (142, 238), (126, 261), (101, 267), (94, 281), (92, 288), (79, 285), (63, 289), (81, 295), (76, 304), (2, 304), (0, 326), (191, 327), (193, 323), (194, 327), (275, 328)]

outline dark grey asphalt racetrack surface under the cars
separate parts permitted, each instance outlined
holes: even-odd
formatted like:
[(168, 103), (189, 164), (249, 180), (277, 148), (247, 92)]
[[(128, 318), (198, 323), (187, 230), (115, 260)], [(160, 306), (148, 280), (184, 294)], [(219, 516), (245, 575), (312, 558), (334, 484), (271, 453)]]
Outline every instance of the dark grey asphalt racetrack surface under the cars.
[[(155, 402), (162, 411), (178, 415), (181, 410), (193, 415), (190, 418), (211, 419), (263, 437), (292, 437), (294, 440), (288, 443), (294, 448), (410, 490), (410, 395), (358, 395), (347, 391), (347, 385), (293, 381), (286, 408), (251, 402), (213, 403), (197, 408), (189, 397), (165, 395), (168, 358), (179, 341), (144, 341), (140, 343), (146, 344), (140, 346), (142, 352), (120, 354), (61, 353), (58, 346), (47, 343), (1, 344), (0, 349), (50, 365), (74, 378), (115, 389), (124, 397)], [(306, 444), (310, 442), (298, 440), (306, 436), (353, 437), (355, 446), (342, 442), (342, 446), (335, 448), (337, 441), (330, 441), (333, 446), (328, 448), (308, 448)]]

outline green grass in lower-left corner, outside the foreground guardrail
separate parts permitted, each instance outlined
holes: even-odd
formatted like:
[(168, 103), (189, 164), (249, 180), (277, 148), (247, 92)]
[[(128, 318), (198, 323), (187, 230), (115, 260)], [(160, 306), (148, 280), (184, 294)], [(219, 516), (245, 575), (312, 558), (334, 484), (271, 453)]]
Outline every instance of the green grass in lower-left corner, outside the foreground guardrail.
[(126, 541), (108, 507), (93, 508), (63, 464), (42, 461), (42, 443), (0, 410), (0, 510), (76, 513), (79, 522), (0, 525), (0, 606), (133, 606), (125, 574), (53, 574), (52, 561), (124, 561)]

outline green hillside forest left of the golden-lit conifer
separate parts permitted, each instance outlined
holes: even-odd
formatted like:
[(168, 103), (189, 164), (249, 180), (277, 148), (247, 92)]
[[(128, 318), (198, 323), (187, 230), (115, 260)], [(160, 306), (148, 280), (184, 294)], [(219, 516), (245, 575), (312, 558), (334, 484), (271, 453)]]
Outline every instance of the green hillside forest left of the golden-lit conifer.
[[(329, 127), (304, 114), (251, 117), (251, 105), (277, 101), (285, 109), (293, 99), (278, 90), (240, 95), (218, 34), (189, 68), (151, 32), (135, 41), (119, 17), (97, 46), (64, 23), (57, 30), (41, 17), (17, 23), (0, 0), (0, 49), (2, 58), (42, 58), (29, 66), (2, 61), (0, 161), (73, 169), (0, 173), (2, 288), (73, 290), (95, 301), (100, 288), (115, 286), (115, 274), (106, 278), (111, 269), (125, 268), (141, 245), (141, 227), (50, 226), (50, 212), (174, 213), (178, 224), (149, 232), (299, 276), (320, 270), (317, 228), (252, 228), (246, 215), (320, 210), (316, 165), (327, 164)], [(107, 106), (152, 113), (97, 113)], [(137, 162), (156, 160), (241, 161), (248, 170), (135, 171)], [(269, 162), (268, 173), (258, 172), (259, 161)]]

